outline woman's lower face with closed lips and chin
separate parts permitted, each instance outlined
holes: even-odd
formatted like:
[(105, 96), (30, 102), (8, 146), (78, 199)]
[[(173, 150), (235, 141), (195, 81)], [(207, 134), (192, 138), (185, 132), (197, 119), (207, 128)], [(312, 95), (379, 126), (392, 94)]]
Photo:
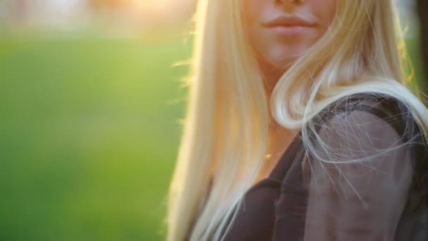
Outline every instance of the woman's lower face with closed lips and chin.
[(332, 23), (337, 0), (242, 0), (244, 25), (262, 68), (286, 70)]

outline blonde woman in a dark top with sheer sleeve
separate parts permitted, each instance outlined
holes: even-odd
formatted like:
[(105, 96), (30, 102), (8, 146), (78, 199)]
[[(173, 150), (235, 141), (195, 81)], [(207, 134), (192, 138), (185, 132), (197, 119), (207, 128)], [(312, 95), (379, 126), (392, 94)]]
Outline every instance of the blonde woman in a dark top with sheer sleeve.
[(195, 19), (168, 240), (428, 240), (428, 111), (391, 0), (200, 0)]

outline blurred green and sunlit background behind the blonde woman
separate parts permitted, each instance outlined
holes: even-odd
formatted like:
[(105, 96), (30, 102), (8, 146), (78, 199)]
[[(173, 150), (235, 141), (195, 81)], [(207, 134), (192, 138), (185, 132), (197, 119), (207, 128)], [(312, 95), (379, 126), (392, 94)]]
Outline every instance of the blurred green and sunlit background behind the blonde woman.
[(0, 240), (165, 239), (195, 2), (0, 1)]

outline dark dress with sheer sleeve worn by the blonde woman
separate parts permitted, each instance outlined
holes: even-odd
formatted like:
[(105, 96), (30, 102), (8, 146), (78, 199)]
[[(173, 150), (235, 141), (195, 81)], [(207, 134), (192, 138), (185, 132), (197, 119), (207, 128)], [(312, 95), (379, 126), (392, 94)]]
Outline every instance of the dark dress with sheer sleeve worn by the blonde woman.
[(309, 156), (299, 133), (222, 240), (427, 241), (427, 146), (408, 107), (353, 94), (314, 120), (327, 147)]

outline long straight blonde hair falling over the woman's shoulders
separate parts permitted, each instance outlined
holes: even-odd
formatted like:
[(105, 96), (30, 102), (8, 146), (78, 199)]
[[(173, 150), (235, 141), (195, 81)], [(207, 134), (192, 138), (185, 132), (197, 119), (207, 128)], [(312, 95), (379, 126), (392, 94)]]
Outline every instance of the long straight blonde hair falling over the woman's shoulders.
[(168, 240), (221, 240), (264, 160), (267, 101), (279, 125), (302, 128), (305, 147), (313, 145), (305, 131), (310, 120), (360, 92), (396, 97), (424, 134), (428, 130), (428, 110), (405, 87), (404, 45), (397, 40), (391, 0), (338, 1), (329, 31), (282, 75), (270, 100), (241, 9), (239, 0), (198, 1), (189, 104), (170, 183)]

